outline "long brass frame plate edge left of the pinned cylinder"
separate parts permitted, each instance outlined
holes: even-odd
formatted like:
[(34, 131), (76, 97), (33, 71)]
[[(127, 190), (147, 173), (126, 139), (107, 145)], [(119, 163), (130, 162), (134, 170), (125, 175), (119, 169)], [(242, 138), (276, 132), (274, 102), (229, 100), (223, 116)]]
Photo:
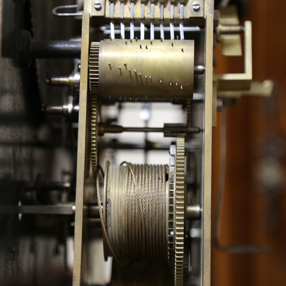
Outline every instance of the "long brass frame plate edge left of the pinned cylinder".
[(80, 109), (78, 118), (78, 160), (76, 173), (76, 216), (74, 229), (74, 269), (73, 269), (73, 286), (85, 285), (87, 277), (87, 259), (84, 233), (84, 179), (86, 178), (87, 163), (90, 158), (88, 154), (88, 51), (89, 51), (89, 25), (90, 14), (82, 14), (82, 53), (80, 69)]

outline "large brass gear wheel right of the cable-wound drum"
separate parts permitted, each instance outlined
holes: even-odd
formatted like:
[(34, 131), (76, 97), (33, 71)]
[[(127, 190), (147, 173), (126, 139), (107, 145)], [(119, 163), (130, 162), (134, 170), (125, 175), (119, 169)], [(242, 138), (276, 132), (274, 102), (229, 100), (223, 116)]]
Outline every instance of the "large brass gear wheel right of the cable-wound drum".
[(176, 148), (176, 188), (174, 193), (175, 286), (183, 285), (184, 274), (184, 166), (185, 138), (183, 135), (178, 135)]

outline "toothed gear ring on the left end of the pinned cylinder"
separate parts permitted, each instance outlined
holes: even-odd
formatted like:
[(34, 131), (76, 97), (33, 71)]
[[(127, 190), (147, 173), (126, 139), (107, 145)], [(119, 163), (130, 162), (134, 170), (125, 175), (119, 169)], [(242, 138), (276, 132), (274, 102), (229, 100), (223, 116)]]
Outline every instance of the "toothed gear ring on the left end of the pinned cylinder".
[(92, 94), (99, 94), (99, 46), (99, 42), (90, 44), (89, 78), (90, 92)]

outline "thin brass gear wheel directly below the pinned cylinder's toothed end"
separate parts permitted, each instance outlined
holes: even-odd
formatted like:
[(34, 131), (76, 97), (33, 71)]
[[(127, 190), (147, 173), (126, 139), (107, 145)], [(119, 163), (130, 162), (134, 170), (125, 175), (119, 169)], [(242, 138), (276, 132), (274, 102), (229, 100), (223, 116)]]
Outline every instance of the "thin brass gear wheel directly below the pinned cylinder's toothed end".
[(92, 96), (91, 108), (91, 166), (92, 176), (97, 176), (97, 96)]

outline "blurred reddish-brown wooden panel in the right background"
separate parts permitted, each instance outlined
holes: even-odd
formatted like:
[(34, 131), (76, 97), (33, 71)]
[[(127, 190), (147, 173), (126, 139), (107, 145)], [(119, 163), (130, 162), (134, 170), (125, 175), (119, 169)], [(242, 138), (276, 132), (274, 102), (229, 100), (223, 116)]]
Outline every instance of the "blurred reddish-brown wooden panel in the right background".
[[(268, 254), (229, 254), (212, 240), (212, 286), (286, 285), (286, 187), (277, 196), (277, 228), (267, 228), (269, 201), (255, 180), (259, 148), (269, 134), (286, 140), (286, 1), (248, 1), (253, 27), (253, 80), (274, 80), (273, 98), (242, 98), (227, 108), (227, 164), (221, 241), (226, 245), (267, 245)], [(243, 70), (243, 59), (214, 51), (215, 73)], [(271, 109), (271, 106), (273, 108)], [(212, 129), (212, 227), (219, 183), (221, 114)], [(286, 158), (281, 160), (286, 168)], [(213, 229), (212, 229), (213, 233)]]

